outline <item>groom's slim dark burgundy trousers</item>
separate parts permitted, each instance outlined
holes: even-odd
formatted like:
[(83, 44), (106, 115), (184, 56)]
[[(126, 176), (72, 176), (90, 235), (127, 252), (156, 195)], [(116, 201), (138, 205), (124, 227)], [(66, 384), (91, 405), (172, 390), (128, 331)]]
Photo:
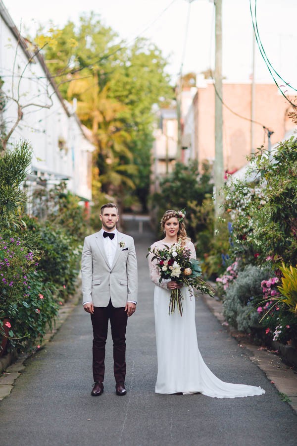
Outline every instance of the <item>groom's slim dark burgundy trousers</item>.
[(108, 320), (110, 320), (113, 340), (113, 372), (116, 383), (124, 383), (126, 377), (126, 326), (125, 307), (114, 308), (111, 300), (107, 307), (94, 307), (91, 314), (93, 326), (93, 377), (94, 381), (104, 381), (105, 344)]

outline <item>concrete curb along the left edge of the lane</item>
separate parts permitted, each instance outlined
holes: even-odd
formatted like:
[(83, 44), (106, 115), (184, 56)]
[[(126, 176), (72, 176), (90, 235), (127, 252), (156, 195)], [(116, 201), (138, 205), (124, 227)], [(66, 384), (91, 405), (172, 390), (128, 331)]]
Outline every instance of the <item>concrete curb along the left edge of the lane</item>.
[(8, 396), (13, 389), (14, 381), (20, 376), (21, 371), (25, 368), (25, 360), (43, 348), (53, 338), (80, 300), (81, 281), (79, 280), (75, 294), (59, 308), (55, 326), (53, 330), (49, 331), (44, 336), (42, 342), (40, 342), (40, 348), (37, 348), (31, 353), (23, 353), (19, 356), (8, 353), (0, 359), (0, 400), (5, 398), (5, 396)]

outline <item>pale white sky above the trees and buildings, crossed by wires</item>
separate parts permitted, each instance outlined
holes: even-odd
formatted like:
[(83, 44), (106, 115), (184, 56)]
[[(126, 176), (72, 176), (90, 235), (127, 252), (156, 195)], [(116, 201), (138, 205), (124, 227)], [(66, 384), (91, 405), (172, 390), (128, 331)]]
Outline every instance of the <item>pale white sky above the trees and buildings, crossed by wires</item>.
[[(252, 5), (256, 0), (251, 0)], [(211, 0), (3, 0), (16, 26), (35, 34), (40, 23), (62, 27), (83, 12), (99, 14), (104, 25), (133, 42), (147, 37), (168, 59), (174, 82), (183, 74), (214, 67), (214, 4)], [(253, 31), (249, 0), (222, 0), (223, 75), (248, 81), (252, 73)], [(265, 52), (283, 79), (297, 88), (297, 1), (257, 0), (258, 30)], [(188, 24), (188, 26), (187, 26)], [(259, 50), (255, 79), (273, 82)]]

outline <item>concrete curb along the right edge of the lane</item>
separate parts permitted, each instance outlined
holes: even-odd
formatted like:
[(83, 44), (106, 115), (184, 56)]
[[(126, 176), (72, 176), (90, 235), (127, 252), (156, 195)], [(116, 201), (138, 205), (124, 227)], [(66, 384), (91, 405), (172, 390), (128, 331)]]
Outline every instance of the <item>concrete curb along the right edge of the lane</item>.
[(243, 339), (242, 333), (231, 329), (224, 319), (223, 304), (220, 300), (216, 300), (205, 294), (201, 295), (201, 298), (222, 326), (239, 342), (238, 345), (241, 348), (247, 349), (250, 360), (257, 364), (270, 382), (275, 385), (282, 399), (287, 401), (295, 412), (297, 412), (297, 373), (294, 371), (294, 368), (287, 366), (269, 348), (251, 344), (246, 339)]

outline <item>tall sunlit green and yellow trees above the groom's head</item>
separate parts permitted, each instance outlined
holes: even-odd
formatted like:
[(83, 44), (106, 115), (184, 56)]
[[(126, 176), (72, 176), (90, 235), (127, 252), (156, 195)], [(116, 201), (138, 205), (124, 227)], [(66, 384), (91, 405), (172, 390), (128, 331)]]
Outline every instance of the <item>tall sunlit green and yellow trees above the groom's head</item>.
[[(166, 60), (147, 39), (131, 45), (94, 12), (49, 30), (44, 55), (62, 96), (77, 99), (77, 114), (93, 132), (94, 178), (120, 201), (131, 192), (146, 210), (154, 114), (173, 97)], [(39, 45), (45, 34), (39, 34)], [(42, 40), (42, 41), (41, 41)], [(99, 181), (98, 181), (99, 180)]]

